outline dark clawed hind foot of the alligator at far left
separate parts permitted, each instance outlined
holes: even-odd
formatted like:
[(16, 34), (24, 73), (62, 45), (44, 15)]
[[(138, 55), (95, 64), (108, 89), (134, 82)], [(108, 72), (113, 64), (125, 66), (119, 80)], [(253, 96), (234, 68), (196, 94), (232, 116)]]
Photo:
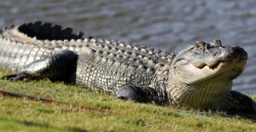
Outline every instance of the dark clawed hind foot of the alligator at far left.
[(3, 76), (2, 79), (11, 80), (11, 81), (24, 81), (27, 82), (31, 77), (27, 76), (27, 74), (23, 72), (15, 73), (15, 74), (9, 74), (6, 76)]

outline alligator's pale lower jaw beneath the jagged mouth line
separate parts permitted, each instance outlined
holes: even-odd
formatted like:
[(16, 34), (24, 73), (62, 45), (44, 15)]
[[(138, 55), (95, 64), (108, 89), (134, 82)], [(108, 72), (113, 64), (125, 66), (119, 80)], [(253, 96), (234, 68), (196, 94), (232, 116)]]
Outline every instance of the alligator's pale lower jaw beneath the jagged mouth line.
[(229, 71), (230, 78), (234, 79), (243, 72), (247, 59), (234, 58), (230, 60), (218, 60), (212, 66), (204, 64), (203, 66), (195, 66), (187, 60), (179, 60), (174, 65), (177, 79), (182, 83), (195, 84), (201, 83), (212, 77), (216, 77), (223, 72)]

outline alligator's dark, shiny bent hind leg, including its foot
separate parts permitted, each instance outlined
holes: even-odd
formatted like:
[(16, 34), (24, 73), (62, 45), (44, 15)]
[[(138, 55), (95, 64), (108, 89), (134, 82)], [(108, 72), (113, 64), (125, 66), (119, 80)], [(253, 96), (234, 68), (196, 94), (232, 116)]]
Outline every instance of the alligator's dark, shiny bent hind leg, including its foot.
[(71, 50), (62, 50), (44, 60), (34, 60), (21, 72), (3, 76), (9, 80), (37, 80), (49, 78), (51, 81), (75, 83), (78, 55)]

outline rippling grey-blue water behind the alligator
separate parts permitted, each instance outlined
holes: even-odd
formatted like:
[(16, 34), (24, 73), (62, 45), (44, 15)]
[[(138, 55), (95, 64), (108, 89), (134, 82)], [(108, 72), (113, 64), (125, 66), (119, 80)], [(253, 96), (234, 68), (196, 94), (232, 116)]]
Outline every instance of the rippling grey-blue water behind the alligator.
[(0, 27), (42, 20), (73, 27), (85, 37), (175, 53), (189, 43), (220, 38), (224, 45), (247, 50), (246, 70), (233, 89), (256, 95), (255, 4), (253, 0), (8, 0), (0, 2)]

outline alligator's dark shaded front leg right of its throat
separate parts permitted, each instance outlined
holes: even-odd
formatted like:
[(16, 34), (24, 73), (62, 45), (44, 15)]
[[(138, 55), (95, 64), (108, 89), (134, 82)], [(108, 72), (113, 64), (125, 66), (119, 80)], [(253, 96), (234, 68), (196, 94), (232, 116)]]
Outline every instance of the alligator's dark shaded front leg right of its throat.
[(225, 106), (228, 112), (256, 113), (256, 103), (247, 95), (243, 95), (235, 90), (230, 91)]

